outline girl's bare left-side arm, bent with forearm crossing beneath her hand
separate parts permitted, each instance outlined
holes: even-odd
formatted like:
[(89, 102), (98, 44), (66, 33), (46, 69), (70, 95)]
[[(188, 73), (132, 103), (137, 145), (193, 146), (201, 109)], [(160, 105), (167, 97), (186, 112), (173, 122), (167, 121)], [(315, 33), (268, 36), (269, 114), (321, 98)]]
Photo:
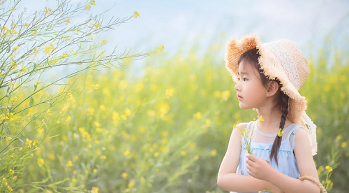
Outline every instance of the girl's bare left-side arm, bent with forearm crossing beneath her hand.
[(218, 187), (221, 190), (235, 192), (258, 192), (260, 190), (280, 192), (279, 188), (272, 185), (272, 183), (253, 178), (252, 176), (242, 176), (236, 173), (242, 149), (240, 129), (246, 127), (247, 123), (241, 123), (237, 124), (237, 128), (232, 130), (228, 150), (225, 153), (218, 171)]

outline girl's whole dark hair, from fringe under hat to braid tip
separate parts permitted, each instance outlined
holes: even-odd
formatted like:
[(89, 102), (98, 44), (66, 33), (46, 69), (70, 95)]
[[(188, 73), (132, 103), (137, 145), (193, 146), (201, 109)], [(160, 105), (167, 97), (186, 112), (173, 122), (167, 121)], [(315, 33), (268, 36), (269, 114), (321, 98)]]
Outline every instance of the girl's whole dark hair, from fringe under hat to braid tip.
[[(281, 122), (280, 122), (280, 129), (281, 132), (283, 131), (283, 128), (285, 127), (285, 122), (286, 122), (286, 117), (288, 115), (288, 95), (284, 94), (281, 91), (281, 83), (280, 80), (278, 80), (278, 78), (276, 78), (275, 80), (269, 80), (265, 74), (263, 73), (263, 70), (260, 69), (260, 64), (258, 63), (258, 58), (260, 57), (260, 54), (258, 53), (258, 49), (257, 48), (253, 48), (252, 50), (248, 50), (246, 52), (244, 52), (239, 60), (238, 60), (238, 64), (240, 64), (240, 62), (244, 61), (244, 64), (249, 64), (252, 67), (254, 67), (255, 69), (258, 70), (258, 72), (260, 73), (260, 80), (262, 81), (262, 84), (267, 87), (269, 81), (275, 81), (276, 83), (279, 84), (279, 90), (278, 92), (276, 92), (276, 94), (279, 95), (279, 99), (278, 99), (278, 103), (276, 104), (276, 106), (274, 106), (272, 108), (272, 110), (274, 110), (275, 108), (279, 108), (281, 106)], [(245, 65), (244, 65), (245, 68)], [(272, 158), (274, 157), (276, 164), (279, 166), (278, 164), (278, 152), (281, 146), (281, 141), (282, 141), (282, 136), (276, 135), (276, 138), (274, 140), (273, 146), (272, 146), (272, 152), (270, 153), (270, 160), (272, 160)]]

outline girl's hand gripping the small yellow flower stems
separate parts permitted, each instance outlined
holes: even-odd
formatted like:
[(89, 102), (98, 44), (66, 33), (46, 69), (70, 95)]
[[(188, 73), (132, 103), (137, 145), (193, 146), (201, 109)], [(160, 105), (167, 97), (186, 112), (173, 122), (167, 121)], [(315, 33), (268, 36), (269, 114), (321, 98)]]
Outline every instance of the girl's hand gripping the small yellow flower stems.
[(274, 170), (265, 159), (260, 159), (254, 155), (246, 153), (247, 159), (247, 173), (258, 178), (260, 180), (268, 181), (269, 176), (271, 176), (272, 171)]

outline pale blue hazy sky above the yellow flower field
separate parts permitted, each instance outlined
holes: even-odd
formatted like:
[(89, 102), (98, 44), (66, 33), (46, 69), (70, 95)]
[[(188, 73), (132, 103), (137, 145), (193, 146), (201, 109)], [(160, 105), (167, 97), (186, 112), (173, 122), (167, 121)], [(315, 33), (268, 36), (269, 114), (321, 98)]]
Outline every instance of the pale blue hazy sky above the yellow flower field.
[[(55, 0), (22, 1), (21, 6), (34, 12), (40, 8), (54, 7)], [(71, 0), (70, 3), (87, 1)], [(266, 0), (266, 1), (132, 1), (96, 0), (91, 10), (70, 18), (71, 24), (89, 18), (91, 14), (103, 13), (104, 20), (128, 17), (133, 12), (140, 17), (121, 24), (110, 31), (94, 37), (97, 43), (107, 39), (106, 50), (117, 46), (133, 51), (151, 51), (164, 45), (162, 54), (172, 57), (178, 50), (184, 57), (193, 45), (198, 55), (212, 43), (225, 44), (229, 38), (241, 38), (256, 34), (263, 43), (278, 39), (290, 39), (302, 49), (304, 55), (316, 55), (320, 48), (340, 48), (349, 52), (349, 1), (344, 0)], [(331, 39), (329, 46), (325, 39)], [(311, 47), (309, 46), (311, 45)], [(222, 59), (224, 49), (219, 55)], [(138, 62), (142, 65), (142, 61)]]

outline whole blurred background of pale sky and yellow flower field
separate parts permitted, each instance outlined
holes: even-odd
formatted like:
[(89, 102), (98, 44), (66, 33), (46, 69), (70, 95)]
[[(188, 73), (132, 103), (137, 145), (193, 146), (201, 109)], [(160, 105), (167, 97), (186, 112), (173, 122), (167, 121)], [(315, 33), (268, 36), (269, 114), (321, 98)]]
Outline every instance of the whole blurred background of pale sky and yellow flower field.
[(314, 160), (322, 183), (332, 167), (330, 192), (348, 192), (349, 1), (96, 1), (70, 20), (103, 13), (107, 21), (135, 10), (140, 17), (95, 40), (107, 39), (106, 50), (165, 50), (119, 69), (81, 73), (82, 89), (100, 87), (51, 109), (71, 120), (50, 131), (54, 137), (35, 152), (24, 180), (68, 178), (65, 185), (99, 192), (224, 192), (216, 177), (232, 127), (257, 115), (239, 108), (225, 43), (256, 34), (262, 42), (288, 38), (309, 60), (299, 92), (318, 126)]

